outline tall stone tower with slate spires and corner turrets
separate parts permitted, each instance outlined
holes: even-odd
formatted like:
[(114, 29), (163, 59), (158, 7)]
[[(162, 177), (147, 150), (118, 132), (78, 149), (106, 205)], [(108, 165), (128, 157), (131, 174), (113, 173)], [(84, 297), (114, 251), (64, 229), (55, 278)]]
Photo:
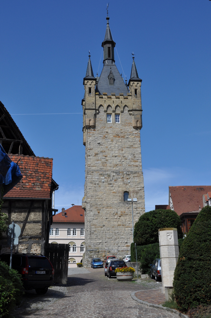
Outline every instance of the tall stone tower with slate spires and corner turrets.
[(134, 224), (145, 212), (141, 165), (141, 79), (134, 57), (128, 85), (115, 65), (114, 47), (107, 27), (102, 43), (103, 69), (94, 77), (89, 61), (84, 78), (83, 143), (85, 149), (85, 266), (93, 257), (123, 257), (130, 253), (132, 206)]

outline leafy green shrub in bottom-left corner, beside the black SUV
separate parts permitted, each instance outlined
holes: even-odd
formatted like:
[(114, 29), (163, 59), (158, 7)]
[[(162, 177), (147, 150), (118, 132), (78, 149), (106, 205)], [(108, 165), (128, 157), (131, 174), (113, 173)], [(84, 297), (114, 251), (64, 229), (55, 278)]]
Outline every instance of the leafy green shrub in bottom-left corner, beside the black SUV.
[(0, 261), (0, 317), (10, 317), (10, 311), (22, 297), (21, 275)]

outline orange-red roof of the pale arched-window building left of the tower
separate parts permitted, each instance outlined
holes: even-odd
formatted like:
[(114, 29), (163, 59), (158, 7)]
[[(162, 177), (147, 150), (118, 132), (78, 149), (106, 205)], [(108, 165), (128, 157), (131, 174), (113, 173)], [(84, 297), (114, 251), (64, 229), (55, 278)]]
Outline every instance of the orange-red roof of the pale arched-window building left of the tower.
[[(66, 217), (65, 217), (65, 215), (66, 215)], [(56, 214), (53, 217), (53, 223), (59, 223), (59, 222), (81, 223), (81, 222), (84, 222), (84, 209), (82, 209), (81, 205), (73, 205), (71, 208), (65, 210), (65, 215), (63, 216), (62, 212)]]

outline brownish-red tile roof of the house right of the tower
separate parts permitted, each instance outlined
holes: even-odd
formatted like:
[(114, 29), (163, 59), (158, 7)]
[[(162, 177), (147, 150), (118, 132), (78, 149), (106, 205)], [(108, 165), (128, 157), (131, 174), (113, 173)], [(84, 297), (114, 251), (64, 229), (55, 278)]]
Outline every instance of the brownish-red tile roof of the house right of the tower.
[(174, 211), (180, 215), (203, 208), (203, 195), (211, 191), (211, 185), (169, 187)]

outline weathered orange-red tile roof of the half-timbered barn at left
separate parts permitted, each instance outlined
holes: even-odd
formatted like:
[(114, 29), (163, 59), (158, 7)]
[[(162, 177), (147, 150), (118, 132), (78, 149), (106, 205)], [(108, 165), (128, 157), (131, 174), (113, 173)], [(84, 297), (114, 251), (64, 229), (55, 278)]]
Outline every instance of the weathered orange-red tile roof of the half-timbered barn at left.
[(9, 155), (23, 175), (22, 180), (4, 197), (50, 198), (53, 159), (23, 155)]

